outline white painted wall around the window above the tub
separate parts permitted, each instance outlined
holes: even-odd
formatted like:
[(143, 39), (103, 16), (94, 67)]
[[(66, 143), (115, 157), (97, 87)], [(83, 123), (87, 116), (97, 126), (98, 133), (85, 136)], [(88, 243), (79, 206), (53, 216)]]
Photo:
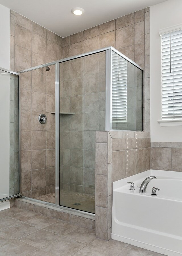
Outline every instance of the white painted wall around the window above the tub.
[(159, 30), (182, 24), (182, 1), (169, 0), (150, 7), (150, 124), (151, 141), (182, 142), (181, 126), (160, 126), (161, 37)]

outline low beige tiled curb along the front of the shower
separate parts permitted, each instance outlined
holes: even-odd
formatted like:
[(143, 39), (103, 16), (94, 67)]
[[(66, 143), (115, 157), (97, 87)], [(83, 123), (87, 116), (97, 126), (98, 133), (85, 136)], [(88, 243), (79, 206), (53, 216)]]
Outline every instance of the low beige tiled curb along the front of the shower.
[(46, 205), (44, 202), (38, 203), (32, 201), (31, 199), (25, 199), (22, 197), (17, 197), (14, 199), (14, 206), (48, 217), (66, 221), (71, 224), (76, 224), (81, 227), (95, 229), (95, 216), (78, 213), (67, 209), (59, 209), (55, 206)]

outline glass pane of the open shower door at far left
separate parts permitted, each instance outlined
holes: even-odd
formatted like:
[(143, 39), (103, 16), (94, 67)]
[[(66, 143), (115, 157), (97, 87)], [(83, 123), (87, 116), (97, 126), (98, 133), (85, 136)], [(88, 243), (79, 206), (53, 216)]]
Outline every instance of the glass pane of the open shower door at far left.
[(0, 70), (0, 201), (20, 193), (18, 99), (18, 75)]

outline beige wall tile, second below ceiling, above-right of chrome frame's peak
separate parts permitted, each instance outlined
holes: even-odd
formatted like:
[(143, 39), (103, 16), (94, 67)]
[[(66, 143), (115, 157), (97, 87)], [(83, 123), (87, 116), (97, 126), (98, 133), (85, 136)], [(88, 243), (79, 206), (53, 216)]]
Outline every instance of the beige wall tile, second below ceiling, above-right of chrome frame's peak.
[(116, 30), (116, 49), (134, 45), (134, 25)]

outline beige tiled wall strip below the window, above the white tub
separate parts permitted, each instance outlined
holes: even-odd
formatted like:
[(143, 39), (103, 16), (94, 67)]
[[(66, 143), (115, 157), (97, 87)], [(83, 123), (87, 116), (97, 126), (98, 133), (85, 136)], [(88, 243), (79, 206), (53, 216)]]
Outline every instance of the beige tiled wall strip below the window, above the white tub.
[(151, 169), (182, 172), (182, 142), (151, 142)]

